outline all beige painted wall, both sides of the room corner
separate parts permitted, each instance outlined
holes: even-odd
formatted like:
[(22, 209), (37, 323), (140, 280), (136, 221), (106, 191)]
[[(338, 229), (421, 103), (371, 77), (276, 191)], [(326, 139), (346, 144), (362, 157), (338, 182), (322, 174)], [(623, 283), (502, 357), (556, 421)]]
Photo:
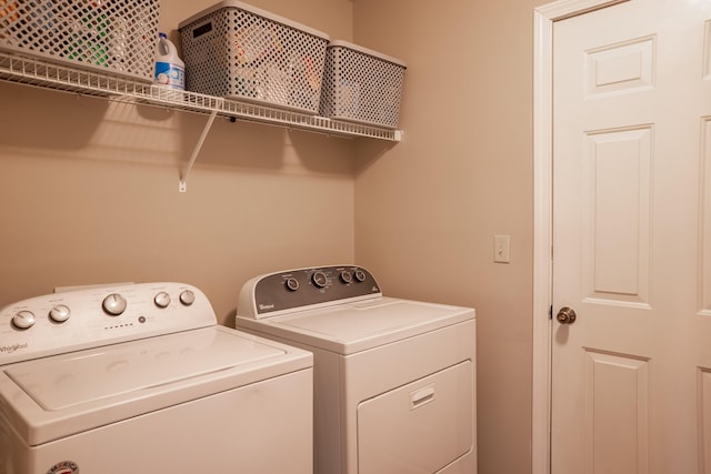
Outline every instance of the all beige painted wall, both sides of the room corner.
[[(211, 0), (163, 0), (162, 29)], [(0, 305), (186, 281), (232, 325), (250, 276), (350, 262), (478, 311), (480, 474), (530, 472), (532, 10), (540, 0), (250, 0), (407, 61), (404, 140), (343, 140), (0, 83)], [(494, 264), (493, 235), (511, 235)]]

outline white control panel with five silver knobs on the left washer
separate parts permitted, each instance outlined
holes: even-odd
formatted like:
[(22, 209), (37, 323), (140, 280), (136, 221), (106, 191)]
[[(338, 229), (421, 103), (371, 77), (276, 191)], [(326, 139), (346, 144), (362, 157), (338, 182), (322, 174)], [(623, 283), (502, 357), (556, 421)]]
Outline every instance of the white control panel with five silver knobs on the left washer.
[(52, 293), (0, 309), (0, 365), (214, 324), (208, 297), (184, 283)]

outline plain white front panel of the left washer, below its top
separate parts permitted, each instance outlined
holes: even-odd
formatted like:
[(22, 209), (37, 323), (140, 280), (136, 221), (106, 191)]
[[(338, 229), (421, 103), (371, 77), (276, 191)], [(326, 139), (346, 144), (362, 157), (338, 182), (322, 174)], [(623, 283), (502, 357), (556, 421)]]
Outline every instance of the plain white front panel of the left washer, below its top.
[(284, 372), (39, 445), (0, 422), (0, 472), (313, 474), (312, 386), (312, 369)]

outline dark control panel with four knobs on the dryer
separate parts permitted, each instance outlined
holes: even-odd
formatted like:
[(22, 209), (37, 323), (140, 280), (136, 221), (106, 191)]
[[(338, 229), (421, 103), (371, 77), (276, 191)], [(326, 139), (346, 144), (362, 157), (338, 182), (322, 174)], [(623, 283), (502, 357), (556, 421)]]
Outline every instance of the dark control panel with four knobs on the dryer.
[(380, 286), (361, 266), (284, 270), (247, 282), (240, 292), (237, 312), (240, 316), (260, 319), (375, 296), (382, 296)]

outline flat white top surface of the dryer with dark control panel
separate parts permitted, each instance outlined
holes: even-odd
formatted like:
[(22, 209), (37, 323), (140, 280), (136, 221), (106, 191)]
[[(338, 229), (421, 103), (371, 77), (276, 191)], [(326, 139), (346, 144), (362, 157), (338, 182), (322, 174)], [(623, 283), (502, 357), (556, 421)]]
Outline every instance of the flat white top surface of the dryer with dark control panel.
[(239, 326), (340, 354), (352, 354), (474, 317), (470, 307), (375, 297), (318, 310), (253, 320)]

